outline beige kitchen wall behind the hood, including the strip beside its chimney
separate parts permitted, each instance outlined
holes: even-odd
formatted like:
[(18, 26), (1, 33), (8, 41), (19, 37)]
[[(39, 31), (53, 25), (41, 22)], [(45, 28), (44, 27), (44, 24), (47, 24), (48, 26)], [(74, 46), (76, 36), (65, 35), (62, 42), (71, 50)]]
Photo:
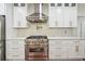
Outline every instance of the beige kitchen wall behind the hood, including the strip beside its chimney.
[[(31, 9), (32, 8), (32, 9)], [(33, 4), (28, 4), (28, 15), (34, 12)], [(48, 15), (48, 4), (43, 4), (43, 13)], [(37, 29), (38, 26), (42, 26)], [(26, 29), (17, 29), (17, 37), (27, 37), (30, 35), (46, 35), (54, 37), (76, 37), (77, 28), (49, 28), (47, 23), (30, 24)]]

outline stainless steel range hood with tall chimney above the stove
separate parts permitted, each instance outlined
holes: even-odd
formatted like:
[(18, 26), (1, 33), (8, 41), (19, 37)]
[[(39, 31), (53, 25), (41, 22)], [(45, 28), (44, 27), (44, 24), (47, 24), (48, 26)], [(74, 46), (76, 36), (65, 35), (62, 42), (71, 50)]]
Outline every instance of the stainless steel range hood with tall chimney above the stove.
[(42, 3), (34, 3), (34, 13), (28, 15), (26, 18), (31, 23), (46, 23), (47, 16), (42, 13)]

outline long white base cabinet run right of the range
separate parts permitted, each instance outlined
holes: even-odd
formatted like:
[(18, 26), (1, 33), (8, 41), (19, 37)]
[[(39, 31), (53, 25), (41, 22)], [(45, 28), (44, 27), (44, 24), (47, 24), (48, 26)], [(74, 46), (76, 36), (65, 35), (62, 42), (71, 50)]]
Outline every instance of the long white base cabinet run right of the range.
[(49, 60), (82, 60), (83, 43), (80, 40), (49, 40)]

